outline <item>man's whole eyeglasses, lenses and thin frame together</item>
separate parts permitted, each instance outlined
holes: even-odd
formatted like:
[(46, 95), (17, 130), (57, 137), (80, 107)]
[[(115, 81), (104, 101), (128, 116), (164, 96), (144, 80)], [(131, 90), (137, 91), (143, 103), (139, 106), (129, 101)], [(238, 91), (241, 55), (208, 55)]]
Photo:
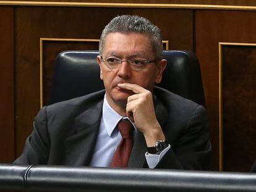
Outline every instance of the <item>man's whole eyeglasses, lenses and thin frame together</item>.
[(155, 60), (149, 61), (147, 59), (140, 59), (140, 58), (122, 60), (116, 57), (108, 57), (108, 59), (103, 59), (103, 57), (101, 56), (100, 61), (104, 62), (109, 69), (116, 69), (119, 66), (119, 64), (122, 64), (122, 62), (126, 61), (129, 63), (130, 67), (132, 67), (133, 70), (142, 70), (142, 69), (145, 69), (148, 64), (157, 62), (160, 60), (155, 59)]

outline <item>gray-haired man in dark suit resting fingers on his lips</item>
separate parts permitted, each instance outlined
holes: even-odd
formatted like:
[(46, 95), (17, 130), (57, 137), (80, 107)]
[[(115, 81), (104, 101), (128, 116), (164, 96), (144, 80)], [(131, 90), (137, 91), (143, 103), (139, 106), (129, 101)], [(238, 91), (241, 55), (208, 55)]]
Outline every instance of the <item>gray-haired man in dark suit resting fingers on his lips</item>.
[(205, 109), (154, 88), (166, 68), (161, 42), (143, 17), (111, 20), (96, 58), (106, 90), (43, 107), (15, 163), (206, 169)]

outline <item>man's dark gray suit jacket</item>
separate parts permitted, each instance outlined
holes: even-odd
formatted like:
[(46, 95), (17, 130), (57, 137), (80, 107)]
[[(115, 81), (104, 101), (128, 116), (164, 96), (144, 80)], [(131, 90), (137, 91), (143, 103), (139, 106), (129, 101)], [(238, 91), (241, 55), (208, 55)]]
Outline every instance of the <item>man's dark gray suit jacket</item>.
[[(105, 90), (43, 107), (15, 164), (90, 165)], [(207, 169), (211, 144), (205, 108), (155, 88), (155, 112), (171, 149), (156, 168)], [(138, 131), (128, 167), (148, 167), (147, 145)]]

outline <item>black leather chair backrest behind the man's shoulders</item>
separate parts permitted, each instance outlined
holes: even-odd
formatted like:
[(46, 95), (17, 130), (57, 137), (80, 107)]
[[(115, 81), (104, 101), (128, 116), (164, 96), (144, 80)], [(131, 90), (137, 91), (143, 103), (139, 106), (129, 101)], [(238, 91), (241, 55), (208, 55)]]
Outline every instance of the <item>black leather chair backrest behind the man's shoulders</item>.
[[(104, 89), (98, 51), (64, 51), (56, 57), (50, 104)], [(205, 106), (200, 65), (189, 51), (164, 51), (168, 65), (157, 86)]]

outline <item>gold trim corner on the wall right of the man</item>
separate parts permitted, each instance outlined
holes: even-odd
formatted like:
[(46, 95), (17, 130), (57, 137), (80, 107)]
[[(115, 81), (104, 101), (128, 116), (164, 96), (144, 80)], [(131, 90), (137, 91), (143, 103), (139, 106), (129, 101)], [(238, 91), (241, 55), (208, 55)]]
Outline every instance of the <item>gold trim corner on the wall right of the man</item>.
[(219, 170), (223, 171), (223, 63), (222, 63), (222, 47), (223, 46), (256, 46), (256, 43), (229, 43), (219, 42)]

